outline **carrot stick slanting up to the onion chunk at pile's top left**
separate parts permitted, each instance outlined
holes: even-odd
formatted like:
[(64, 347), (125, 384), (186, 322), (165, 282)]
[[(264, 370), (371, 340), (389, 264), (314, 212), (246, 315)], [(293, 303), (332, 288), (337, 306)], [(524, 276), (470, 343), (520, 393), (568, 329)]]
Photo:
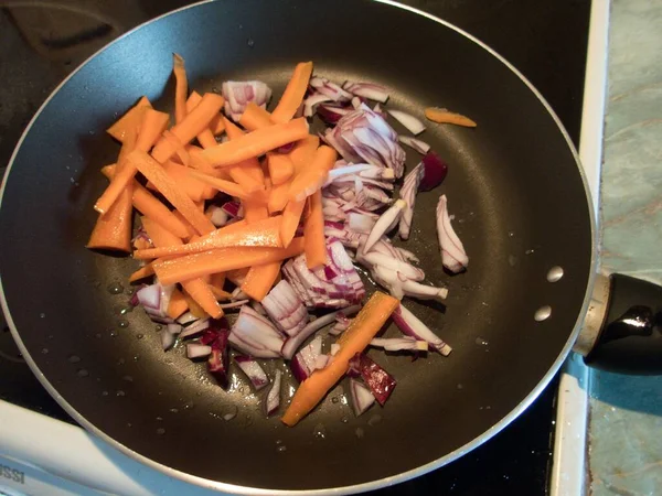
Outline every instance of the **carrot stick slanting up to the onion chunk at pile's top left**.
[[(205, 93), (193, 110), (186, 114), (184, 120), (174, 125), (171, 129), (172, 134), (182, 143), (186, 144), (205, 129), (212, 119), (218, 115), (223, 107), (224, 99), (221, 95)], [(177, 143), (167, 138), (161, 138), (152, 151), (152, 157), (157, 162), (166, 162), (177, 152)]]

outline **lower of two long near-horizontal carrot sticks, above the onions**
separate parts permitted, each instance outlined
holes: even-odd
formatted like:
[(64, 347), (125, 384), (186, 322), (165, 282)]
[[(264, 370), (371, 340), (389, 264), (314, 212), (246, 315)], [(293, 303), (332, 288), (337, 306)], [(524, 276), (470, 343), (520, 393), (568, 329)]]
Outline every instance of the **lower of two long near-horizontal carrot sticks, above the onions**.
[(296, 257), (303, 251), (303, 239), (295, 238), (287, 248), (217, 248), (169, 260), (154, 261), (154, 272), (162, 284), (199, 278), (215, 272), (260, 266)]

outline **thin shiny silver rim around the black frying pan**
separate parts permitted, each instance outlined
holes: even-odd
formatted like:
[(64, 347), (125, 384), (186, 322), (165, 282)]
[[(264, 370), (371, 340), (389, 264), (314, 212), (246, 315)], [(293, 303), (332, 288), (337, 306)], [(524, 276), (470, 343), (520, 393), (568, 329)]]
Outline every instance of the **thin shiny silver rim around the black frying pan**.
[[(14, 151), (12, 152), (12, 155), (9, 160), (8, 166), (7, 166), (7, 171), (4, 173), (4, 177), (2, 181), (2, 185), (0, 187), (0, 209), (2, 207), (2, 200), (4, 198), (4, 191), (7, 187), (7, 183), (8, 183), (8, 179), (9, 179), (9, 174), (11, 172), (11, 169), (13, 166), (13, 163), (15, 161), (15, 158), (19, 153), (19, 150), (22, 147), (22, 143), (24, 141), (24, 139), (26, 138), (26, 136), (29, 134), (30, 130), (32, 129), (32, 126), (34, 125), (34, 122), (36, 121), (36, 119), (40, 117), (41, 112), (45, 109), (45, 107), (49, 105), (49, 103), (51, 101), (51, 99), (60, 91), (60, 89), (66, 85), (68, 83), (70, 79), (72, 79), (85, 65), (87, 65), (93, 58), (95, 58), (97, 55), (99, 55), (100, 53), (105, 52), (106, 50), (108, 50), (110, 46), (113, 46), (114, 44), (120, 42), (122, 39), (131, 35), (132, 33), (135, 33), (136, 31), (142, 29), (143, 26), (151, 24), (153, 22), (157, 22), (161, 19), (168, 18), (170, 15), (177, 14), (179, 12), (185, 11), (188, 9), (193, 9), (193, 8), (197, 8), (200, 6), (206, 4), (206, 3), (212, 3), (215, 0), (202, 0), (199, 1), (196, 3), (192, 3), (190, 6), (185, 6), (182, 7), (180, 9), (167, 12), (162, 15), (159, 15), (154, 19), (151, 19), (129, 31), (127, 31), (126, 33), (124, 33), (122, 35), (118, 36), (116, 40), (111, 41), (110, 43), (108, 43), (107, 45), (103, 46), (102, 48), (99, 48), (97, 52), (95, 52), (94, 54), (92, 54), (88, 58), (86, 58), (83, 63), (81, 63), (81, 65), (78, 65), (78, 67), (76, 67), (66, 78), (64, 78), (62, 80), (62, 83), (60, 83), (55, 89), (53, 89), (53, 91), (49, 95), (49, 97), (44, 100), (44, 103), (41, 105), (41, 107), (39, 108), (39, 110), (34, 114), (34, 116), (32, 117), (32, 119), (30, 120), (30, 122), (28, 123), (28, 126), (25, 127), (25, 129), (23, 130), (23, 133), (21, 134), (21, 138), (19, 139)], [(543, 391), (543, 389), (549, 384), (549, 381), (552, 380), (552, 378), (556, 375), (556, 373), (558, 371), (558, 369), (560, 368), (562, 364), (565, 362), (566, 357), (568, 356), (568, 354), (572, 351), (572, 347), (575, 343), (575, 341), (577, 339), (577, 336), (579, 334), (579, 331), (581, 328), (581, 325), (584, 323), (584, 319), (585, 315), (587, 313), (588, 310), (588, 305), (590, 303), (590, 298), (591, 298), (591, 293), (592, 293), (592, 288), (595, 284), (595, 280), (597, 277), (597, 263), (598, 263), (598, 257), (597, 257), (597, 242), (596, 242), (596, 214), (595, 214), (595, 208), (594, 208), (594, 203), (590, 196), (590, 191), (589, 191), (589, 185), (588, 185), (588, 179), (587, 175), (584, 171), (584, 168), (581, 166), (581, 162), (579, 160), (579, 155), (578, 152), (570, 139), (570, 137), (568, 136), (565, 127), (563, 126), (563, 123), (560, 122), (560, 119), (558, 118), (558, 116), (554, 112), (554, 110), (552, 109), (552, 107), (549, 106), (549, 104), (545, 100), (545, 98), (540, 94), (540, 91), (533, 86), (533, 84), (522, 74), (520, 73), (520, 71), (517, 71), (510, 62), (508, 62), (508, 60), (505, 60), (502, 55), (500, 55), (498, 52), (495, 52), (493, 48), (491, 48), (489, 45), (487, 45), (485, 43), (483, 43), (482, 41), (478, 40), (476, 36), (469, 34), (468, 32), (463, 31), (462, 29), (449, 23), (448, 21), (445, 21), (436, 15), (433, 15), (428, 12), (425, 12), (423, 10), (416, 9), (414, 7), (409, 7), (409, 6), (405, 6), (402, 4), (397, 1), (394, 0), (371, 0), (374, 1), (376, 3), (383, 3), (383, 4), (387, 4), (397, 9), (402, 9), (404, 11), (408, 11), (412, 13), (415, 13), (417, 15), (421, 15), (426, 19), (429, 19), (430, 21), (437, 22), (455, 32), (457, 32), (458, 34), (465, 36), (466, 39), (468, 39), (469, 41), (471, 41), (472, 43), (476, 43), (478, 46), (480, 46), (482, 50), (487, 51), (488, 53), (490, 53), (493, 57), (495, 57), (499, 62), (501, 62), (503, 65), (506, 66), (506, 68), (509, 68), (532, 93), (533, 95), (538, 99), (538, 101), (543, 105), (543, 107), (547, 110), (547, 112), (549, 114), (549, 116), (552, 117), (552, 119), (554, 120), (554, 122), (556, 123), (556, 126), (558, 127), (558, 130), (560, 131), (562, 136), (564, 137), (574, 159), (575, 159), (575, 163), (577, 165), (577, 170), (579, 173), (579, 176), (581, 179), (581, 183), (584, 185), (584, 191), (586, 194), (586, 203), (588, 206), (588, 213), (589, 213), (589, 219), (590, 219), (590, 242), (591, 242), (591, 255), (590, 255), (590, 273), (588, 277), (588, 282), (586, 285), (586, 293), (584, 295), (584, 302), (581, 305), (581, 310), (579, 312), (579, 315), (577, 317), (577, 321), (575, 322), (575, 325), (573, 327), (573, 331), (570, 332), (568, 339), (566, 341), (562, 352), (559, 353), (558, 357), (556, 358), (556, 360), (552, 364), (551, 368), (547, 370), (547, 373), (545, 374), (545, 376), (537, 382), (537, 385), (531, 390), (531, 392), (515, 407), (513, 408), (508, 414), (505, 414), (499, 422), (496, 422), (494, 425), (492, 425), (490, 429), (488, 429), (485, 432), (483, 432), (481, 435), (474, 438), (472, 441), (468, 442), (467, 444), (456, 449), (455, 451), (437, 459), (434, 460), (431, 462), (428, 462), (424, 465), (420, 465), (416, 468), (412, 468), (409, 471), (406, 472), (402, 472), (399, 474), (396, 475), (392, 475), (388, 477), (383, 477), (376, 481), (371, 481), (371, 482), (365, 482), (365, 483), (360, 483), (360, 484), (353, 484), (353, 485), (349, 485), (349, 486), (341, 486), (341, 487), (329, 487), (329, 488), (319, 488), (319, 489), (296, 489), (296, 490), (289, 490), (289, 489), (265, 489), (265, 488), (256, 488), (256, 487), (248, 487), (248, 486), (238, 486), (238, 485), (234, 485), (234, 484), (228, 484), (228, 483), (223, 483), (220, 481), (212, 481), (212, 479), (207, 479), (207, 478), (203, 478), (203, 477), (199, 477), (195, 475), (191, 475), (184, 472), (181, 472), (179, 470), (166, 466), (161, 463), (154, 462), (148, 457), (146, 457), (145, 455), (131, 450), (130, 448), (121, 444), (120, 442), (116, 441), (115, 439), (110, 438), (109, 435), (107, 435), (106, 433), (104, 433), (102, 430), (99, 430), (98, 428), (96, 428), (92, 422), (89, 422), (87, 419), (85, 419), (81, 413), (78, 413), (76, 411), (76, 409), (70, 405), (58, 392), (57, 390), (54, 388), (54, 386), (49, 381), (49, 379), (44, 376), (44, 374), (40, 370), (40, 368), (38, 367), (36, 363), (33, 360), (32, 356), (30, 355), (28, 348), (25, 347), (23, 341), (21, 339), (20, 335), (19, 335), (19, 331), (13, 322), (11, 312), (9, 310), (9, 305), (7, 303), (7, 298), (4, 294), (4, 288), (2, 284), (2, 276), (0, 274), (0, 306), (2, 308), (2, 311), (7, 317), (7, 324), (10, 327), (11, 334), (13, 339), (15, 341), (19, 351), (21, 352), (21, 354), (23, 355), (25, 362), (28, 363), (28, 365), (30, 366), (32, 373), (36, 376), (38, 380), (41, 382), (41, 385), (44, 387), (44, 389), (46, 389), (46, 391), (49, 391), (49, 393), (53, 397), (53, 399), (55, 399), (55, 401), (57, 401), (57, 403), (66, 411), (67, 414), (70, 414), (79, 425), (82, 425), (86, 431), (93, 433), (94, 435), (96, 435), (98, 439), (105, 441), (106, 443), (108, 443), (110, 446), (115, 448), (116, 450), (118, 450), (119, 452), (121, 452), (122, 454), (129, 456), (130, 459), (134, 459), (135, 461), (142, 463), (153, 470), (157, 470), (158, 472), (161, 472), (168, 476), (178, 478), (180, 481), (190, 483), (190, 484), (194, 484), (201, 487), (205, 487), (209, 489), (214, 489), (214, 490), (221, 490), (221, 492), (225, 492), (225, 493), (233, 493), (233, 494), (242, 494), (242, 495), (291, 495), (291, 494), (300, 494), (300, 495), (316, 495), (316, 496), (322, 496), (322, 495), (344, 495), (344, 494), (356, 494), (356, 493), (364, 493), (364, 492), (369, 492), (369, 490), (375, 490), (375, 489), (380, 489), (383, 487), (387, 487), (387, 486), (392, 486), (395, 484), (399, 484), (416, 477), (419, 477), (421, 475), (425, 475), (436, 468), (439, 468), (444, 465), (447, 465), (456, 460), (458, 460), (459, 457), (461, 457), (462, 455), (469, 453), (470, 451), (477, 449), (478, 446), (482, 445), (484, 442), (489, 441), (491, 438), (493, 438), (495, 434), (498, 434), (499, 432), (501, 432), (506, 425), (509, 425), (513, 420), (515, 420), (517, 417), (520, 417), (521, 413), (524, 412), (524, 410), (526, 410), (528, 408), (528, 406), (531, 406), (531, 403), (541, 395), (541, 392)]]

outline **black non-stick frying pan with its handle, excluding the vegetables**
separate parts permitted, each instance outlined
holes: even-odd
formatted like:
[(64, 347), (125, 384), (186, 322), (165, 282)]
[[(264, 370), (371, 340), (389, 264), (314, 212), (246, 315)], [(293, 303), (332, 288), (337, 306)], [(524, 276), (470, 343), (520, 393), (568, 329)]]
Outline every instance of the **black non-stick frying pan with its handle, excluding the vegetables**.
[[(445, 106), (479, 123), (429, 126), (425, 139), (450, 172), (419, 195), (406, 245), (428, 280), (450, 291), (446, 305), (408, 305), (455, 351), (414, 363), (370, 352), (398, 380), (383, 409), (354, 418), (341, 381), (296, 428), (266, 419), (247, 385), (223, 391), (204, 365), (163, 354), (146, 315), (126, 313), (134, 260), (85, 248), (105, 187), (99, 168), (118, 151), (103, 131), (141, 95), (170, 109), (172, 52), (184, 56), (199, 91), (252, 78), (278, 97), (295, 63), (312, 60), (333, 80), (386, 85), (393, 107)], [(416, 162), (408, 153), (408, 166)], [(471, 260), (455, 277), (441, 269), (436, 242), (441, 193)], [(585, 179), (548, 105), (489, 47), (391, 2), (206, 2), (120, 37), (29, 125), (4, 179), (0, 231), (11, 239), (0, 251), (2, 308), (44, 387), (129, 456), (220, 490), (352, 493), (447, 464), (526, 409), (583, 323), (587, 362), (634, 373), (662, 367), (662, 290), (596, 274)], [(563, 277), (552, 282), (551, 271)], [(118, 283), (121, 294), (108, 291)]]

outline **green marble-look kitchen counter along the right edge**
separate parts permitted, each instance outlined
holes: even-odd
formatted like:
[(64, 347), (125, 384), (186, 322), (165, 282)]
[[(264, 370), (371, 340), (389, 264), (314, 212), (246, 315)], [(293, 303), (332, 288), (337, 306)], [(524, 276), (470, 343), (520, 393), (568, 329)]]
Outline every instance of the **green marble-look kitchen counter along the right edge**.
[[(662, 283), (662, 0), (611, 9), (601, 263)], [(590, 494), (662, 494), (662, 377), (590, 375)]]

